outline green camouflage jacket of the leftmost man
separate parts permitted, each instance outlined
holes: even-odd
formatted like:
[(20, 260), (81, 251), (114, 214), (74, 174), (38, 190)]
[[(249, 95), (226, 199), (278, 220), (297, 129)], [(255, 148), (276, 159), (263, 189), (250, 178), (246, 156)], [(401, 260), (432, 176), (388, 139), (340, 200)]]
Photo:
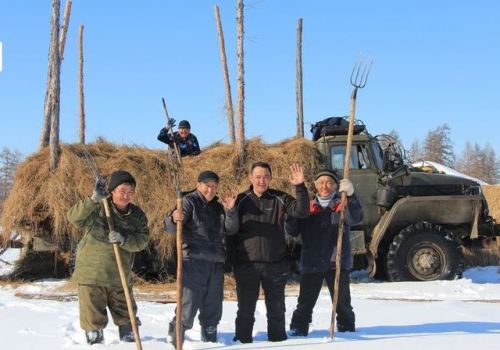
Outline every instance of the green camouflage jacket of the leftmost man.
[[(120, 246), (120, 255), (129, 286), (134, 252), (143, 250), (149, 240), (146, 214), (136, 205), (130, 204), (126, 214), (119, 213), (111, 204), (114, 229), (125, 238)], [(68, 220), (84, 235), (78, 243), (76, 265), (72, 280), (79, 284), (91, 284), (110, 288), (121, 288), (113, 245), (108, 241), (108, 224), (104, 208), (90, 198), (80, 200), (71, 207)]]

